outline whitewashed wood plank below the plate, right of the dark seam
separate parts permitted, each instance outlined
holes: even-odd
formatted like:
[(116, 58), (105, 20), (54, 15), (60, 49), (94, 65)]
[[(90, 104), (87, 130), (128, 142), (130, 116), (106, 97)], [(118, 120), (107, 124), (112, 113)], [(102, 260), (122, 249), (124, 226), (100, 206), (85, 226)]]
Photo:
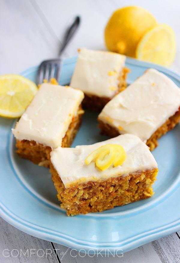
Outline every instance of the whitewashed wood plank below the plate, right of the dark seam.
[[(68, 249), (65, 246), (58, 245), (54, 243), (55, 249), (57, 249), (57, 254), (61, 263), (81, 263), (81, 262), (121, 262), (121, 263), (179, 263), (180, 262), (180, 239), (177, 234), (172, 234), (170, 236), (161, 238), (159, 240), (155, 240), (151, 243), (146, 245), (140, 246), (134, 250), (129, 252), (116, 255), (109, 254), (108, 251), (105, 255), (92, 255), (83, 254), (81, 251), (80, 253)], [(93, 254), (93, 252), (91, 251)]]

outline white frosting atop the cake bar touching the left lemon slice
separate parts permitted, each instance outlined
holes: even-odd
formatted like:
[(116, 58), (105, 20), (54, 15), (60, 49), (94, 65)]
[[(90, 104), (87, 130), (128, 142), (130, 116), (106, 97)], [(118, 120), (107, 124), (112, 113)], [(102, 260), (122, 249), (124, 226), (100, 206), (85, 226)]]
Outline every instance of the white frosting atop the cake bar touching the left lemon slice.
[(52, 148), (60, 146), (83, 98), (80, 90), (43, 83), (13, 129), (14, 136)]

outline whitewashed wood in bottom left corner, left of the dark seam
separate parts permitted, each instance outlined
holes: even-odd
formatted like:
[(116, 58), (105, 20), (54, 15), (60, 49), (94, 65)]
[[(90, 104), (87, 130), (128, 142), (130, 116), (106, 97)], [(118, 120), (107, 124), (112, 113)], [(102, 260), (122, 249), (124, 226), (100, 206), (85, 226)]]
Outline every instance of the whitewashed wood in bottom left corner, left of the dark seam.
[(1, 263), (58, 263), (52, 243), (32, 237), (0, 217)]

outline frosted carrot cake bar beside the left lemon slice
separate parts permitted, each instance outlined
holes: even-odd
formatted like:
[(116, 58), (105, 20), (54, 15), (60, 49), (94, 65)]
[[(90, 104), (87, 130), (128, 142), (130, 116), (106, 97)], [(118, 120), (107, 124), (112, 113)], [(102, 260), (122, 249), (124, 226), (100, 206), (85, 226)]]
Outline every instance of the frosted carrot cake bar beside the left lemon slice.
[(80, 90), (43, 83), (12, 130), (20, 157), (48, 167), (53, 148), (70, 147), (81, 124), (83, 98)]

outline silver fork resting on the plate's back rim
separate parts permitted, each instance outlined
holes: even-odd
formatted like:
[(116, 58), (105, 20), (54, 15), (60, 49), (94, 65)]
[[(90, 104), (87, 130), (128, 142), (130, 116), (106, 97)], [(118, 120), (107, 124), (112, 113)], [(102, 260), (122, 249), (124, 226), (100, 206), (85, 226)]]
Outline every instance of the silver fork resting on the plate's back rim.
[(57, 59), (50, 59), (50, 60), (44, 60), (38, 69), (38, 75), (37, 75), (37, 83), (41, 84), (43, 82), (43, 79), (50, 79), (55, 78), (57, 82), (60, 80), (61, 76), (61, 68), (62, 68), (62, 60), (60, 59), (60, 56), (62, 52), (64, 51), (67, 43), (70, 41), (74, 33), (76, 32), (78, 26), (80, 23), (80, 17), (77, 16), (74, 18), (73, 23), (68, 27), (64, 40), (61, 46), (61, 49), (59, 51)]

